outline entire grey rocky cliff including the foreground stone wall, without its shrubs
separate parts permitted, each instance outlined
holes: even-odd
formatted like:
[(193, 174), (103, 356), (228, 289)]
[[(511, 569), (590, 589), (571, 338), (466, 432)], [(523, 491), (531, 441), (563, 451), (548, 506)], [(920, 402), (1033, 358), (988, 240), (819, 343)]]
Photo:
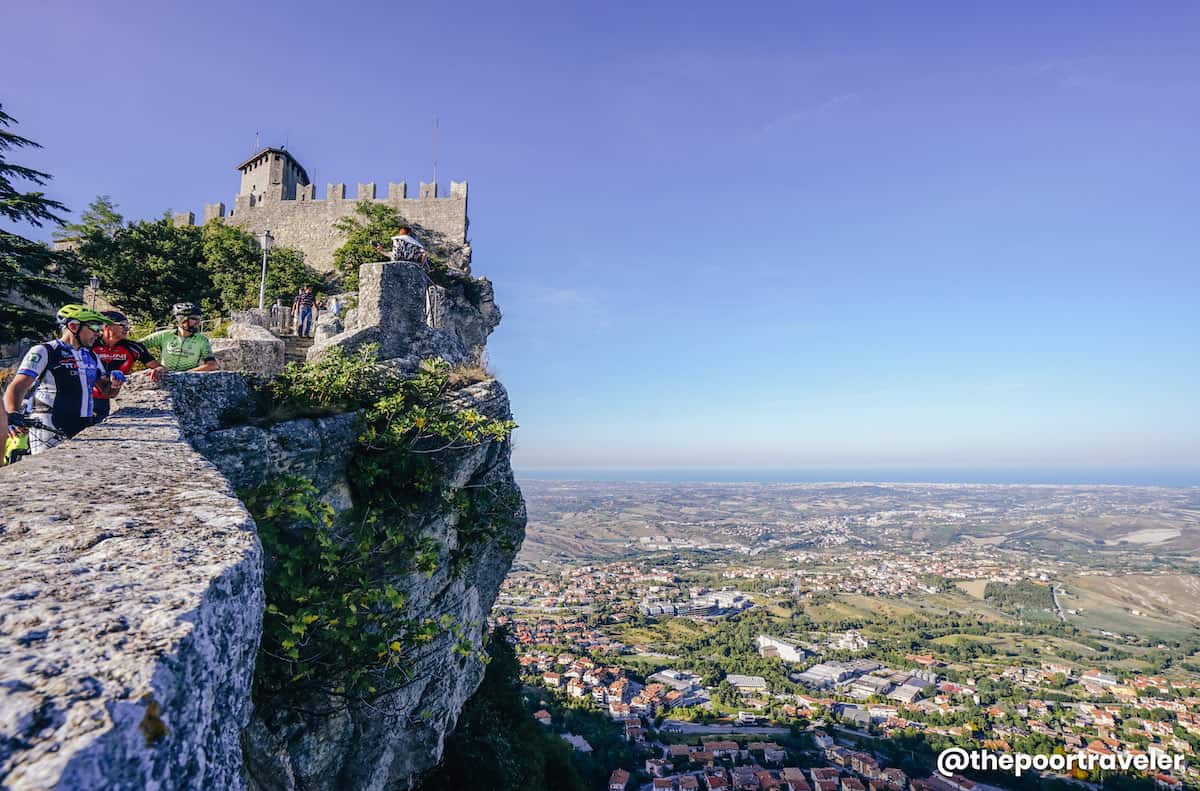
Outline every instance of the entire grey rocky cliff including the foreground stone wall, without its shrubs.
[[(412, 264), (376, 264), (360, 282), (355, 320), (326, 328), (311, 359), (372, 343), (404, 373), (432, 355), (478, 361), (499, 320), (490, 284), (466, 275), (439, 286)], [(276, 420), (263, 412), (262, 379), (233, 372), (174, 374), (161, 386), (136, 378), (124, 397), (110, 423), (0, 473), (0, 573), (20, 583), (0, 601), (0, 778), (13, 787), (409, 787), (438, 762), (482, 678), (486, 617), (524, 535), (509, 442), (439, 456), (448, 491), (487, 489), (511, 503), (486, 535), (468, 539), (452, 511), (418, 510), (404, 527), (437, 547), (436, 563), (377, 570), (407, 611), (449, 627), (406, 648), (403, 683), (365, 696), (259, 689), (252, 705), (263, 557), (230, 485), (299, 477), (336, 513), (356, 513), (361, 414)], [(444, 400), (481, 419), (511, 417), (494, 379)], [(144, 471), (136, 484), (120, 466), (130, 456)], [(107, 499), (95, 487), (47, 486), (61, 480), (53, 471), (76, 468), (97, 471)]]

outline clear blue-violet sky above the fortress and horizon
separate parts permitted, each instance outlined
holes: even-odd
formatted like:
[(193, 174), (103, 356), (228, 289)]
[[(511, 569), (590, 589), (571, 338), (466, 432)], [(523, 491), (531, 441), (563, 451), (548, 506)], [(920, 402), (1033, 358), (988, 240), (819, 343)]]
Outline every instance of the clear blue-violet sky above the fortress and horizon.
[[(10, 4), (50, 193), (470, 182), (518, 469), (1200, 469), (1200, 6)], [(1196, 477), (1200, 483), (1200, 475)]]

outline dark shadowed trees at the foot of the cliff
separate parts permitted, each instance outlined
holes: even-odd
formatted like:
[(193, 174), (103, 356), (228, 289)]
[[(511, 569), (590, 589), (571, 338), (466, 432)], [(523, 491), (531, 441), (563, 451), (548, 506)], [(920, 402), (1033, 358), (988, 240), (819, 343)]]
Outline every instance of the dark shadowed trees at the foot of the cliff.
[(419, 791), (587, 789), (571, 748), (538, 725), (523, 705), (516, 654), (503, 627), (492, 633), (487, 653), (484, 682), (446, 738), (442, 763), (424, 778)]

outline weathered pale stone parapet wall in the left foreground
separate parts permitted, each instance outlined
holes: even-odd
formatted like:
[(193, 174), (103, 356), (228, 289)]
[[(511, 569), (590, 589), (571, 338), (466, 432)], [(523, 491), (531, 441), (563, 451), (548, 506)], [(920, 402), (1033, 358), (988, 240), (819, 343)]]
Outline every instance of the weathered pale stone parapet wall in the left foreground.
[(258, 538), (167, 392), (127, 402), (0, 469), (6, 789), (242, 784)]

